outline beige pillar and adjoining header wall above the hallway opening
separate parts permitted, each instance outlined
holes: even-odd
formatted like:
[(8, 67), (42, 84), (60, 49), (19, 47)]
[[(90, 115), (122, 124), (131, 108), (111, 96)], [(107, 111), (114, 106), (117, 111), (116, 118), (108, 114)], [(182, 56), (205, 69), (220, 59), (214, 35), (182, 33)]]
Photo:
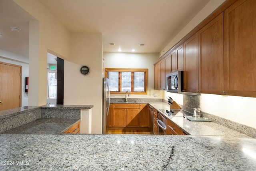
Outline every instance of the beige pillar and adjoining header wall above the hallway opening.
[(47, 52), (70, 58), (70, 32), (38, 0), (14, 0), (38, 21), (30, 21), (28, 104), (46, 104)]

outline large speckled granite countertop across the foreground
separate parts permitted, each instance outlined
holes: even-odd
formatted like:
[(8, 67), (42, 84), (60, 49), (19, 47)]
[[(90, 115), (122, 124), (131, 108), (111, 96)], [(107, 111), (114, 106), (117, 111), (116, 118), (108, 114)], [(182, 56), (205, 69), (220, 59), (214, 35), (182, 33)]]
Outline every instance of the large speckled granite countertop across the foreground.
[[(182, 135), (0, 135), (0, 170), (254, 171), (256, 139)], [(17, 165), (16, 162), (23, 162)]]

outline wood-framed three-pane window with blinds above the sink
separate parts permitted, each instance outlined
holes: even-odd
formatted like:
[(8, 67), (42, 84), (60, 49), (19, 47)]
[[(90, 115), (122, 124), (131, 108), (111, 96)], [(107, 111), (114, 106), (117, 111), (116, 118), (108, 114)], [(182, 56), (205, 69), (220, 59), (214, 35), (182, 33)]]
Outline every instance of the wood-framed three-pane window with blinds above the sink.
[(106, 68), (110, 93), (147, 94), (148, 69)]

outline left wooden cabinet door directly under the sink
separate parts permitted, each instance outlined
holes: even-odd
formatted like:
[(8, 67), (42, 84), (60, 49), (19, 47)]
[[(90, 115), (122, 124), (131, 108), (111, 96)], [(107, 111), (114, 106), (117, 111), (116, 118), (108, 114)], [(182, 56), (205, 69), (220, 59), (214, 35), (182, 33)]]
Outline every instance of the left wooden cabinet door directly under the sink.
[(112, 111), (112, 126), (126, 127), (126, 109), (114, 108)]

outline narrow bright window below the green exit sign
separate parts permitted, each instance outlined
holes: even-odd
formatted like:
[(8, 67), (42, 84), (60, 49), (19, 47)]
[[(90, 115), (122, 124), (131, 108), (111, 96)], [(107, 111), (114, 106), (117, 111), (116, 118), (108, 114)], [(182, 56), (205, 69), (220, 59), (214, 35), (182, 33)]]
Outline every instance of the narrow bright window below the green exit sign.
[(57, 98), (57, 73), (49, 72), (48, 99)]

